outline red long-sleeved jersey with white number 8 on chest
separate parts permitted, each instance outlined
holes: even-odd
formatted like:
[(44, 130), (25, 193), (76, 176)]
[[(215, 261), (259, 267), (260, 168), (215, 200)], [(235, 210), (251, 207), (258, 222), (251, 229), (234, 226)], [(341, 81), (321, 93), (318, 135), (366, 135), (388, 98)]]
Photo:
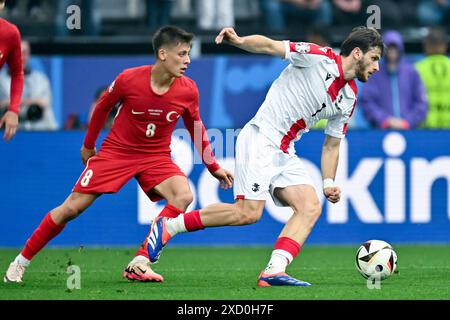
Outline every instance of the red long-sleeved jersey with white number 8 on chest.
[(195, 82), (185, 76), (175, 78), (169, 90), (160, 95), (152, 90), (151, 69), (152, 66), (126, 69), (114, 80), (94, 109), (84, 146), (95, 147), (109, 112), (121, 103), (101, 151), (136, 156), (170, 155), (172, 133), (182, 117), (203, 162), (211, 172), (218, 170), (220, 167), (200, 118)]

